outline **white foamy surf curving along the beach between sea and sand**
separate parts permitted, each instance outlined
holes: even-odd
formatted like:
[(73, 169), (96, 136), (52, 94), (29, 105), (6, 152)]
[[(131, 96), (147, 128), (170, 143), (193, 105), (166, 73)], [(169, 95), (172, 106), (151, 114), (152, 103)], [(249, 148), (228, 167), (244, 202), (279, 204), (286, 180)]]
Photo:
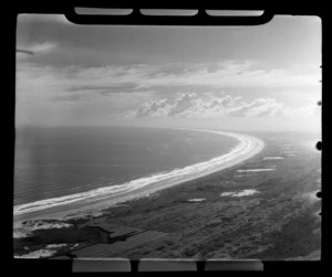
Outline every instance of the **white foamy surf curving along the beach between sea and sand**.
[[(199, 175), (199, 174), (201, 175), (201, 173), (204, 172), (214, 172), (214, 170), (218, 170), (220, 166), (225, 166), (237, 158), (245, 157), (246, 155), (250, 153), (255, 148), (253, 140), (256, 138), (249, 137), (247, 135), (238, 135), (238, 134), (212, 131), (212, 130), (201, 130), (201, 129), (184, 129), (184, 130), (196, 130), (196, 131), (217, 134), (221, 136), (229, 136), (237, 139), (239, 143), (236, 147), (234, 147), (228, 153), (210, 159), (205, 162), (198, 162), (191, 166), (187, 166), (185, 168), (174, 169), (168, 172), (158, 172), (153, 175), (132, 180), (123, 184), (104, 187), (104, 188), (74, 193), (65, 196), (45, 199), (45, 200), (40, 200), (31, 203), (20, 204), (14, 206), (13, 213), (14, 215), (20, 215), (20, 214), (31, 213), (35, 211), (50, 209), (50, 207), (77, 203), (80, 201), (86, 204), (89, 202), (106, 199), (110, 196), (117, 196), (117, 195), (122, 196), (124, 193), (136, 191), (149, 184), (157, 185), (160, 182), (174, 182), (174, 181), (180, 182), (181, 180), (190, 175)], [(260, 143), (263, 145), (262, 141), (260, 141)]]

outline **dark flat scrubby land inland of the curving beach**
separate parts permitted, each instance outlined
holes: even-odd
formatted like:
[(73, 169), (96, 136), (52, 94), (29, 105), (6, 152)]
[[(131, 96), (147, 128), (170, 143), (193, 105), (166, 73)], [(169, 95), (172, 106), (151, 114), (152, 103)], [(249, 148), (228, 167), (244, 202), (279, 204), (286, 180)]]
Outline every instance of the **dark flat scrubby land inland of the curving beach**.
[[(69, 220), (71, 227), (14, 238), (14, 255), (66, 244), (54, 258), (320, 259), (320, 152), (298, 143), (299, 137), (257, 137), (264, 149), (242, 163), (110, 207), (98, 217)], [(242, 190), (257, 193), (220, 196)]]

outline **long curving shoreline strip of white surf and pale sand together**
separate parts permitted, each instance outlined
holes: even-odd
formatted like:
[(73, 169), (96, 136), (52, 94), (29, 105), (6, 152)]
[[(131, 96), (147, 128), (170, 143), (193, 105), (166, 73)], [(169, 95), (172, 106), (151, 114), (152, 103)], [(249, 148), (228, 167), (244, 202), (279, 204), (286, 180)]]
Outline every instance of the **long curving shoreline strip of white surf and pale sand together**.
[[(85, 192), (85, 194), (77, 193), (59, 199), (37, 201), (33, 203), (19, 205), (21, 210), (15, 206), (14, 211), (17, 211), (17, 213), (14, 212), (14, 225), (27, 220), (60, 220), (69, 217), (70, 215), (76, 216), (82, 213), (93, 213), (102, 211), (112, 205), (127, 202), (137, 198), (147, 196), (152, 193), (155, 193), (156, 191), (164, 190), (169, 187), (191, 181), (194, 179), (218, 172), (226, 168), (234, 167), (253, 157), (264, 147), (262, 140), (248, 135), (206, 129), (183, 130), (195, 130), (228, 136), (237, 139), (239, 143), (226, 155), (214, 158), (206, 162), (199, 162), (185, 167), (183, 169), (172, 170), (167, 173), (156, 174), (154, 175), (154, 179), (142, 178), (139, 180), (134, 180), (125, 184), (93, 190), (90, 192), (91, 195), (87, 195), (87, 192)], [(87, 199), (84, 199), (86, 196)], [(58, 202), (55, 202), (55, 200)], [(82, 204), (82, 201), (84, 200), (89, 200), (87, 204), (85, 205)], [(51, 207), (48, 207), (48, 205), (50, 205)], [(64, 206), (66, 207), (65, 211), (63, 211)], [(24, 213), (24, 209), (27, 209), (25, 211), (29, 212)], [(21, 214), (20, 211), (22, 212)]]

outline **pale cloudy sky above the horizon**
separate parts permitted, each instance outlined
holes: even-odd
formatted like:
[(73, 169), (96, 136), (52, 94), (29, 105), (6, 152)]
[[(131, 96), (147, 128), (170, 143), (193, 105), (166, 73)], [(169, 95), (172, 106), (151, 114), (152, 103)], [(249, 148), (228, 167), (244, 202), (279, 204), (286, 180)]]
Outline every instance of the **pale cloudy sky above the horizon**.
[(17, 126), (320, 131), (321, 21), (76, 25), (19, 14)]

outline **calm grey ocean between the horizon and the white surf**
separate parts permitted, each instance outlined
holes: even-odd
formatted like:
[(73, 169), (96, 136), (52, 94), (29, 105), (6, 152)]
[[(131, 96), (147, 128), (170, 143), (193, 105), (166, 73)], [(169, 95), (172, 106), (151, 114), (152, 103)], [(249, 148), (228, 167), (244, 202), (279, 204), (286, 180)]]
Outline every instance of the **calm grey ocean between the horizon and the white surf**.
[(222, 156), (231, 137), (138, 127), (15, 130), (14, 205), (63, 198), (170, 172)]

